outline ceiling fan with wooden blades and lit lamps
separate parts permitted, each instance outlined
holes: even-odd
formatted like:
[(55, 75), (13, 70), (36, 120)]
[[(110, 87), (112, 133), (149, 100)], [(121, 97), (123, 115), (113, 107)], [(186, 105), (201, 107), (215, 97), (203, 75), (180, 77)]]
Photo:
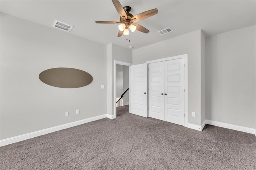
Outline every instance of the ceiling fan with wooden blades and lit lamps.
[(157, 14), (158, 10), (156, 8), (142, 12), (140, 14), (137, 14), (136, 16), (133, 16), (132, 14), (129, 13), (132, 10), (132, 8), (130, 6), (122, 7), (122, 5), (120, 4), (120, 2), (118, 0), (112, 0), (112, 2), (114, 4), (118, 14), (120, 15), (120, 21), (95, 21), (96, 23), (120, 23), (120, 25), (118, 25), (118, 28), (119, 28), (119, 32), (117, 35), (118, 37), (121, 37), (123, 34), (129, 35), (128, 28), (130, 28), (130, 30), (132, 32), (134, 32), (135, 30), (138, 30), (143, 33), (149, 32), (148, 29), (146, 29), (145, 27), (142, 27), (141, 25), (136, 24), (134, 22), (144, 20), (146, 18), (149, 18), (149, 17)]

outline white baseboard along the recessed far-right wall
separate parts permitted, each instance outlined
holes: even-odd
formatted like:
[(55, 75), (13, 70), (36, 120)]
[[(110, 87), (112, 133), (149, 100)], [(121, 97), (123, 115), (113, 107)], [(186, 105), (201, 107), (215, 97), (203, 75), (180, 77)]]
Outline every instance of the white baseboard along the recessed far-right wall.
[(256, 129), (253, 129), (253, 128), (250, 128), (250, 127), (232, 125), (232, 124), (222, 123), (222, 122), (212, 121), (212, 120), (205, 120), (204, 122), (205, 122), (205, 124), (208, 124), (208, 125), (214, 125), (214, 126), (218, 126), (218, 127), (224, 127), (224, 128), (227, 128), (227, 129), (233, 129), (233, 130), (236, 130), (236, 131), (251, 133), (251, 134), (254, 134), (256, 136)]

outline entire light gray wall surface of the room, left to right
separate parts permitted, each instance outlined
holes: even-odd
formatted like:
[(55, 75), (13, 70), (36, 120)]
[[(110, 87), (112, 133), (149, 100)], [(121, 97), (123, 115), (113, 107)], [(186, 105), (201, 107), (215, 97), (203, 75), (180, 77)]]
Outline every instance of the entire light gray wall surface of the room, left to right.
[[(140, 64), (182, 54), (188, 54), (188, 123), (201, 125), (206, 118), (256, 128), (255, 32), (254, 25), (207, 37), (205, 47), (198, 30), (131, 51), (1, 13), (0, 139), (112, 115), (114, 60)], [(84, 70), (93, 81), (74, 89), (42, 83), (40, 72), (54, 67)]]

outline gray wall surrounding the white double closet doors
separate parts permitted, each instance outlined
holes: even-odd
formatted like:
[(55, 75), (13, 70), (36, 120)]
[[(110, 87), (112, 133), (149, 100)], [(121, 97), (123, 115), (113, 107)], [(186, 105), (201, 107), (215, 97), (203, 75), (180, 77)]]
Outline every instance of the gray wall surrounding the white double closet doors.
[[(201, 125), (201, 30), (133, 50), (133, 64), (188, 54), (188, 123)], [(196, 112), (196, 117), (191, 112)], [(204, 113), (202, 113), (204, 114)]]

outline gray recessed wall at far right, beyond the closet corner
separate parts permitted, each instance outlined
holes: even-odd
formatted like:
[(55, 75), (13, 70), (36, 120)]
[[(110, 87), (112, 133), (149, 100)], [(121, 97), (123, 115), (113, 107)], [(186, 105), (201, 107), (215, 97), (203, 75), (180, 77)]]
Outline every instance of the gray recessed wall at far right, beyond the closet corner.
[(256, 128), (255, 25), (206, 38), (206, 119)]

